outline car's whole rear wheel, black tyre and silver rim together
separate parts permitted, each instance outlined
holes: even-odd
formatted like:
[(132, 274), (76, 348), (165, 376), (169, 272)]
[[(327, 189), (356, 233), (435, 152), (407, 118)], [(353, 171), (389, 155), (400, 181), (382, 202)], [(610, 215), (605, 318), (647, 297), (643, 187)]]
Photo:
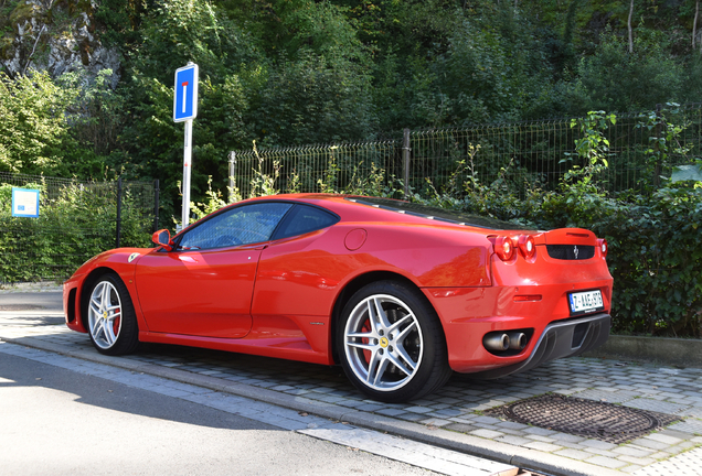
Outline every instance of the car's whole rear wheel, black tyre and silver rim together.
[(451, 374), (436, 312), (417, 291), (398, 282), (374, 282), (351, 298), (337, 345), (349, 379), (375, 400), (419, 398)]

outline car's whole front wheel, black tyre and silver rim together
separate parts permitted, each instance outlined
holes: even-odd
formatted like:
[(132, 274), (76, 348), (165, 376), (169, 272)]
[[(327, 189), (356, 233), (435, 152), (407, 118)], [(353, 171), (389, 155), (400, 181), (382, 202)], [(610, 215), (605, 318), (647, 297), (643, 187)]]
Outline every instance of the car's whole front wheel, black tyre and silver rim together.
[(100, 354), (124, 355), (139, 344), (134, 304), (116, 274), (103, 274), (91, 290), (87, 305), (88, 334)]

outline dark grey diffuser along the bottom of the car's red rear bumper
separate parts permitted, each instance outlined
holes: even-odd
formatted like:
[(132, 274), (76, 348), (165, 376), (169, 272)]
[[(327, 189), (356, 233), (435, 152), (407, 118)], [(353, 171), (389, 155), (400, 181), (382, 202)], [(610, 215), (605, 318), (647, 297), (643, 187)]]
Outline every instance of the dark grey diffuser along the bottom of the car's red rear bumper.
[(549, 360), (581, 355), (607, 342), (610, 327), (611, 316), (604, 313), (551, 323), (526, 359), (507, 367), (475, 372), (470, 377), (494, 379), (530, 370)]

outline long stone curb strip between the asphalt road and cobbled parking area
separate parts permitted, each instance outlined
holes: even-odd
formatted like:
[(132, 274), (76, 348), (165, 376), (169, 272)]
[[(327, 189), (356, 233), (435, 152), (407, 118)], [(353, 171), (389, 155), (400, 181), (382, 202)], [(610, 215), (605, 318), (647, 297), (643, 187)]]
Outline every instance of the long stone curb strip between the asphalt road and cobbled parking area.
[(304, 397), (262, 389), (240, 382), (224, 382), (222, 379), (210, 376), (191, 374), (189, 371), (161, 367), (152, 364), (140, 364), (118, 357), (107, 357), (102, 354), (87, 350), (73, 350), (60, 344), (53, 344), (34, 339), (32, 337), (9, 338), (2, 340), (26, 347), (47, 350), (54, 354), (79, 358), (97, 364), (119, 367), (130, 371), (148, 374), (169, 380), (190, 383), (211, 390), (232, 393), (252, 400), (264, 401), (290, 410), (312, 413), (331, 420), (349, 422), (353, 425), (371, 430), (392, 433), (413, 441), (454, 450), (474, 456), (486, 457), (500, 463), (511, 464), (521, 468), (545, 472), (553, 476), (623, 476), (624, 473), (607, 469), (602, 466), (591, 465), (576, 459), (566, 458), (538, 450), (529, 450), (513, 446), (507, 443), (494, 442), (477, 436), (457, 433), (449, 430), (430, 430), (428, 426), (394, 420), (387, 416), (366, 413), (359, 410), (350, 410), (333, 403), (312, 401)]

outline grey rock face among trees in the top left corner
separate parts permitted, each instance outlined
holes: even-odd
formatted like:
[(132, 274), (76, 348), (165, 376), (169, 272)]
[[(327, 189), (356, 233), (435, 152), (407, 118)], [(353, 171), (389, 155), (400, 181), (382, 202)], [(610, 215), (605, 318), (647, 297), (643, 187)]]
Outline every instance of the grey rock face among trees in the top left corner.
[[(30, 69), (47, 71), (52, 77), (68, 72), (95, 76), (111, 69), (111, 85), (119, 80), (120, 55), (107, 48), (95, 34), (93, 11), (87, 0), (9, 1), (8, 18), (0, 19), (0, 69), (10, 77)], [(1, 31), (1, 30), (0, 30)]]

